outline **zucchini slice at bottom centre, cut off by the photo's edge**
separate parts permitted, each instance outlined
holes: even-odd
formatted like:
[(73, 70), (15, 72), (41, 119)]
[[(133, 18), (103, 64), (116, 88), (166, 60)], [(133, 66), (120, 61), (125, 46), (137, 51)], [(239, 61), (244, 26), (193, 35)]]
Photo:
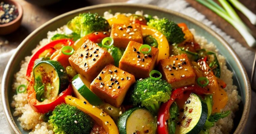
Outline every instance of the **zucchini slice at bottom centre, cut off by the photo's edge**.
[(117, 123), (120, 134), (155, 134), (156, 118), (146, 109), (135, 107), (125, 111)]

